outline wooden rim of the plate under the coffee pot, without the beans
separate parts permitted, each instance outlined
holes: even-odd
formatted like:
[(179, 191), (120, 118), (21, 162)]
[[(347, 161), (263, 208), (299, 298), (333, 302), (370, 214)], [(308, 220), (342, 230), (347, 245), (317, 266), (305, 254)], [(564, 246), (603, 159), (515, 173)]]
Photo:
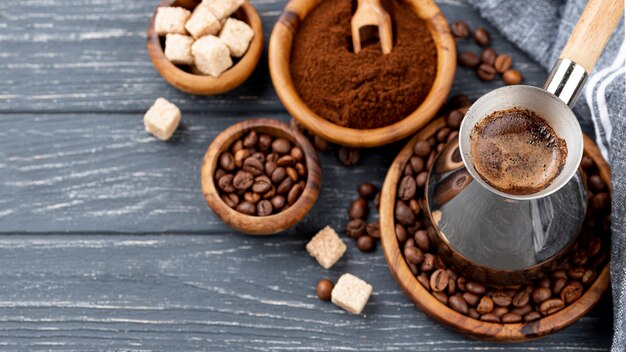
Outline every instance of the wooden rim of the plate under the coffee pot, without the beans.
[[(464, 335), (501, 342), (527, 341), (545, 336), (561, 330), (582, 316), (600, 300), (609, 285), (609, 265), (606, 264), (599, 273), (596, 281), (587, 289), (575, 303), (561, 311), (546, 316), (531, 323), (501, 324), (489, 323), (457, 313), (448, 306), (439, 302), (415, 278), (409, 269), (398, 244), (395, 234), (394, 208), (398, 181), (402, 170), (413, 155), (413, 145), (418, 140), (425, 140), (432, 136), (439, 128), (445, 125), (445, 120), (439, 118), (424, 127), (400, 151), (393, 161), (385, 178), (381, 192), (380, 203), (380, 230), (383, 253), (391, 270), (391, 274), (400, 285), (402, 291), (431, 318)], [(606, 161), (602, 158), (598, 147), (585, 136), (585, 154), (591, 157), (600, 171), (600, 176), (611, 184), (611, 173)]]

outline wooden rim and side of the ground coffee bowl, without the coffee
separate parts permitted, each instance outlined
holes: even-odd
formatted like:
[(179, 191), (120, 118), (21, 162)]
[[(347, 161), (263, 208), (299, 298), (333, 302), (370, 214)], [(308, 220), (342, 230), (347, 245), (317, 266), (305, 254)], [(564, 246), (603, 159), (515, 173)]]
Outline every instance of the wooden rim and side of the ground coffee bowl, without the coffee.
[(437, 75), (422, 104), (392, 125), (359, 130), (336, 125), (313, 112), (298, 95), (290, 71), (291, 47), (302, 20), (323, 0), (291, 0), (276, 22), (270, 37), (270, 74), (278, 97), (289, 113), (306, 129), (333, 143), (352, 147), (375, 147), (414, 133), (437, 113), (445, 102), (456, 69), (456, 44), (445, 17), (431, 0), (405, 0), (427, 22), (437, 47)]

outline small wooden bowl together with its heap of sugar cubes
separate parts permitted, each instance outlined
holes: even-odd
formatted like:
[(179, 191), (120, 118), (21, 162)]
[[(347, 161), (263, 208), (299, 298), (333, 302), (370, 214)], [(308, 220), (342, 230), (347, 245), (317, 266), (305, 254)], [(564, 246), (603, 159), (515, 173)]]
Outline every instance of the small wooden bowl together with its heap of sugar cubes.
[[(177, 14), (176, 10), (178, 10), (178, 12), (184, 12), (184, 14), (179, 14), (182, 16), (179, 21), (189, 23), (193, 20), (193, 11), (197, 9), (198, 6), (205, 6), (200, 5), (201, 2), (200, 0), (161, 1), (148, 24), (148, 55), (152, 60), (154, 68), (161, 77), (177, 89), (197, 95), (222, 94), (241, 85), (250, 77), (252, 72), (254, 72), (263, 54), (264, 38), (261, 18), (254, 7), (249, 2), (245, 1), (241, 4), (241, 7), (234, 13), (227, 15), (226, 18), (220, 19), (208, 15), (212, 21), (218, 21), (218, 23), (220, 23), (219, 25), (216, 24), (218, 28), (222, 26), (219, 28), (219, 31), (209, 30), (208, 33), (212, 33), (211, 35), (205, 35), (207, 31), (202, 27), (208, 24), (197, 23), (197, 21), (193, 27), (186, 24), (184, 26), (185, 28), (178, 29), (176, 29), (176, 27), (181, 27), (180, 24), (174, 26), (172, 23), (168, 23), (170, 26), (174, 27), (174, 29), (170, 29), (170, 31), (174, 33), (159, 33), (157, 28), (155, 28), (159, 9), (175, 9), (173, 14)], [(224, 4), (231, 3), (224, 2)], [(198, 14), (198, 16), (201, 15), (200, 13)], [(224, 28), (227, 28), (226, 22), (231, 19), (235, 20), (233, 22), (236, 23), (236, 25), (228, 26), (228, 28), (241, 28), (242, 24), (240, 22), (243, 22), (252, 29), (253, 37), (246, 50), (242, 51), (243, 54), (242, 52), (231, 51), (231, 55), (226, 55), (227, 58), (223, 58), (215, 53), (222, 53), (223, 50), (220, 51), (218, 49), (223, 49), (223, 47), (215, 51), (211, 51), (211, 48), (214, 49), (215, 46), (221, 46), (223, 44), (215, 44), (215, 42), (222, 40), (221, 37), (224, 37)], [(170, 18), (169, 22), (175, 21)], [(192, 33), (189, 33), (187, 28), (193, 28), (195, 31), (192, 29)], [(233, 30), (230, 32), (236, 31)], [(170, 38), (170, 36), (172, 37)], [(216, 38), (217, 36), (220, 36), (219, 40)], [(206, 40), (208, 37), (212, 37), (211, 39), (213, 40)], [(233, 35), (229, 34), (228, 37), (233, 40)], [(203, 41), (203, 45), (198, 45), (198, 51), (201, 53), (204, 52), (206, 57), (211, 57), (212, 55), (210, 60), (202, 59), (202, 65), (200, 65), (200, 60), (197, 57), (194, 58), (196, 54), (191, 54), (194, 51), (194, 45), (190, 44), (196, 44), (200, 41)], [(171, 45), (172, 49), (170, 52), (173, 53), (170, 54), (173, 55), (170, 59), (168, 59), (168, 45)], [(191, 50), (188, 49), (189, 45), (192, 47)], [(212, 61), (213, 63), (207, 64), (207, 61)], [(227, 61), (227, 63), (224, 61)], [(206, 69), (201, 68), (205, 66)]]

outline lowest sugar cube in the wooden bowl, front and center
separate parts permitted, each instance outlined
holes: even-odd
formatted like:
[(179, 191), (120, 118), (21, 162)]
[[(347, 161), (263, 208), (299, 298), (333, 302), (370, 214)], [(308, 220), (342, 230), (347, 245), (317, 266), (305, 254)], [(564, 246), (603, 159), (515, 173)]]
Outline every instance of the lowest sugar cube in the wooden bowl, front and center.
[(191, 46), (196, 68), (205, 75), (219, 77), (233, 65), (226, 44), (214, 36), (206, 35)]

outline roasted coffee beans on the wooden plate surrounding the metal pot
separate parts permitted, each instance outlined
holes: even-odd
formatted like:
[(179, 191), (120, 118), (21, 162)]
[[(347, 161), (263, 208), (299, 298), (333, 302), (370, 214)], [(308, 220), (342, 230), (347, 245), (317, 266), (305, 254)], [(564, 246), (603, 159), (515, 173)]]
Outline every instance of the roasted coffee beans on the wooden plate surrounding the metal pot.
[[(456, 100), (461, 101), (460, 98)], [(424, 214), (416, 212), (412, 204), (415, 207), (423, 200), (428, 160), (434, 157), (434, 150), (447, 143), (449, 136), (458, 135), (455, 133), (458, 133), (464, 117), (461, 108), (469, 104), (471, 102), (463, 103), (463, 106), (455, 105), (451, 100), (449, 106), (442, 109), (447, 112), (446, 125), (413, 146), (413, 155), (407, 162), (412, 175), (405, 173), (397, 186), (396, 238), (416, 280), (442, 304), (485, 322), (509, 324), (536, 321), (577, 302), (606, 264), (608, 236), (603, 234), (610, 230), (608, 187), (598, 175), (593, 159), (584, 156), (581, 165), (588, 176), (590, 215), (575, 249), (551, 273), (513, 288), (483, 285), (461, 276), (447, 267), (436, 254), (425, 227)], [(419, 171), (413, 170), (414, 166)], [(408, 178), (415, 180), (415, 187)]]

